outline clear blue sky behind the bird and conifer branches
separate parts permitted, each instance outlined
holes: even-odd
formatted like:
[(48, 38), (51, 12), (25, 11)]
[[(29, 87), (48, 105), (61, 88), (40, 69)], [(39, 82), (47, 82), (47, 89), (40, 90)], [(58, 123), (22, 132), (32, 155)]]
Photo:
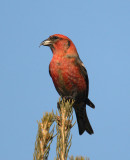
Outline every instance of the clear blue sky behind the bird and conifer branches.
[(48, 73), (52, 53), (38, 47), (55, 33), (76, 45), (96, 106), (87, 106), (95, 134), (79, 136), (75, 125), (69, 155), (130, 159), (129, 0), (0, 2), (0, 159), (32, 159), (37, 120), (56, 110), (59, 95)]

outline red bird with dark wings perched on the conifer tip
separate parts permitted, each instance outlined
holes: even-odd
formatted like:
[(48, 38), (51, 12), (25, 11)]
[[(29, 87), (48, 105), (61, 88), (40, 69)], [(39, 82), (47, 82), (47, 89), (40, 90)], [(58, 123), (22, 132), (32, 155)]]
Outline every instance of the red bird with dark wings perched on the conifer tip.
[(73, 107), (77, 117), (79, 134), (82, 135), (84, 131), (93, 134), (86, 113), (86, 104), (92, 108), (95, 106), (88, 99), (88, 75), (75, 45), (68, 37), (61, 34), (50, 36), (41, 45), (49, 46), (53, 52), (49, 73), (57, 92), (61, 97), (72, 97), (75, 100)]

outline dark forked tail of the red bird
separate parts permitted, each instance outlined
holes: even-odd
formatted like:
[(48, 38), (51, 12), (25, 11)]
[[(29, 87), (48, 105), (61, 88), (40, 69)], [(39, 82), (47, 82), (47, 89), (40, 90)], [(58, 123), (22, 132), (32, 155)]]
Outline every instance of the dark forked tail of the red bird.
[(75, 104), (74, 106), (76, 118), (78, 122), (79, 134), (82, 135), (86, 130), (89, 134), (93, 134), (93, 129), (88, 120), (88, 116), (86, 113), (86, 105), (85, 104)]

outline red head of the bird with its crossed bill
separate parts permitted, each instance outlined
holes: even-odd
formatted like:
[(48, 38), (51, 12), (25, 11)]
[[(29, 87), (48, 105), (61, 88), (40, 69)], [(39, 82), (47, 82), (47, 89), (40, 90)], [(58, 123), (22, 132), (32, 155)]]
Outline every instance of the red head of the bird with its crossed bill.
[(66, 55), (77, 54), (77, 50), (73, 42), (66, 36), (61, 34), (54, 34), (48, 39), (41, 42), (40, 46), (49, 46), (53, 54)]

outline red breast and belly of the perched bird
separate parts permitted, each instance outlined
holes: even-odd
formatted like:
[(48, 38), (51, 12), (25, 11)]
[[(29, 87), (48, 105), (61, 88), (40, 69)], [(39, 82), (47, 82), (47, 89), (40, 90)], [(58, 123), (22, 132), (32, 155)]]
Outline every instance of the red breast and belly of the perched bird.
[(62, 92), (64, 96), (74, 91), (86, 91), (86, 81), (75, 61), (75, 58), (54, 55), (49, 66), (54, 85), (57, 90), (60, 89), (58, 92)]

